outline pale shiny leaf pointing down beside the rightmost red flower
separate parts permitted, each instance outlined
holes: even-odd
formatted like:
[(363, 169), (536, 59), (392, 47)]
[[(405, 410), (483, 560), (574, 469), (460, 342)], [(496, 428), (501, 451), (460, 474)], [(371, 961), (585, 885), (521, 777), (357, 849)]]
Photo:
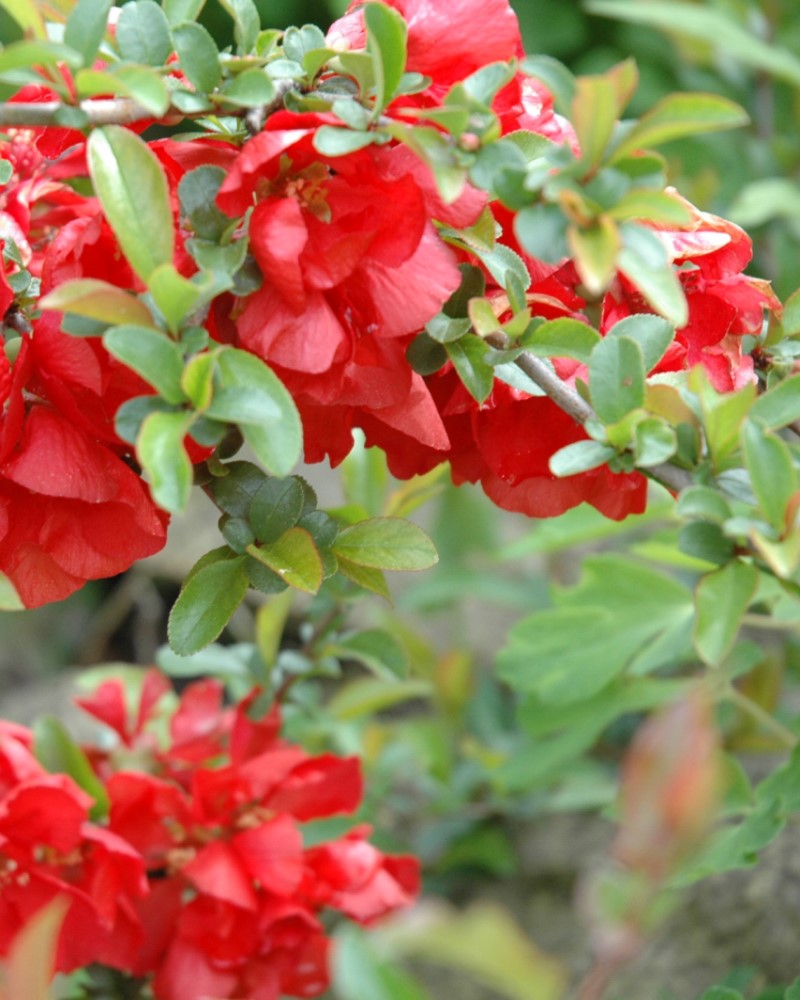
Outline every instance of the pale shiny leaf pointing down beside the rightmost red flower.
[(689, 318), (686, 297), (659, 238), (634, 223), (625, 223), (621, 232), (619, 270), (657, 313), (676, 327), (684, 326)]

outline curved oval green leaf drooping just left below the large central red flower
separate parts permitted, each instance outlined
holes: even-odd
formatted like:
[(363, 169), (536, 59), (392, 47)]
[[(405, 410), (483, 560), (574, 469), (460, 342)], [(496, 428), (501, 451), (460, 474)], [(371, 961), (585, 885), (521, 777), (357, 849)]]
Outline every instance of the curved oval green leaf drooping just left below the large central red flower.
[[(253, 407), (246, 412), (246, 419), (239, 417), (237, 421), (245, 441), (268, 472), (278, 477), (288, 475), (300, 458), (303, 431), (297, 408), (283, 383), (254, 354), (234, 348), (220, 353), (217, 370), (220, 390), (233, 390), (229, 404), (234, 405), (237, 394), (244, 398), (246, 392), (247, 405)], [(215, 392), (206, 411), (212, 418), (217, 399)]]

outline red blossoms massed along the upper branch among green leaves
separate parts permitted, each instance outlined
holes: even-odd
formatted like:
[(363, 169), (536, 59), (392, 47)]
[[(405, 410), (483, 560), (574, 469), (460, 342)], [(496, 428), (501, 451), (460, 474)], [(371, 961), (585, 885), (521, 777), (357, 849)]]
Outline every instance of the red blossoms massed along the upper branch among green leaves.
[[(599, 318), (605, 335), (619, 320), (652, 308), (622, 269), (589, 301), (566, 248), (554, 262), (531, 256), (517, 241), (507, 205), (471, 183), (443, 198), (433, 161), (403, 141), (421, 127), (429, 140), (447, 145), (452, 137), (445, 141), (440, 123), (452, 111), (453, 88), (500, 63), (519, 65), (521, 36), (507, 0), (390, 0), (388, 6), (407, 22), (406, 69), (422, 83), (383, 109), (378, 141), (364, 133), (366, 144), (320, 152), (323, 130), (347, 132), (342, 120), (332, 110), (283, 108), (244, 141), (209, 134), (150, 144), (170, 191), (177, 280), (198, 270), (192, 256), (198, 232), (182, 217), (179, 186), (197, 167), (217, 170), (221, 186), (204, 210), (222, 216), (224, 249), (243, 245), (256, 277), (220, 285), (200, 319), (212, 341), (257, 355), (275, 370), (301, 415), (307, 461), (327, 457), (338, 464), (359, 428), (369, 445), (384, 449), (396, 475), (449, 462), (455, 482), (481, 483), (512, 511), (550, 517), (588, 502), (612, 518), (639, 512), (646, 492), (639, 472), (603, 466), (564, 479), (551, 473), (553, 454), (587, 434), (524, 381), (498, 378), (478, 401), (450, 361), (433, 371), (417, 371), (409, 361), (416, 338), (458, 291), (465, 264), (483, 273), (498, 321), (511, 317), (496, 272), (468, 240), (453, 237), (478, 224), (524, 263), (533, 320)], [(364, 5), (353, 3), (330, 28), (327, 45), (353, 56), (367, 35)], [(47, 96), (26, 88), (19, 99)], [(556, 114), (550, 93), (519, 70), (506, 77), (491, 108), (474, 117), (477, 131), (451, 142), (464, 156), (486, 135), (525, 132), (580, 156), (576, 132)], [(84, 136), (20, 130), (0, 157), (11, 169), (0, 195), (0, 237), (10, 251), (0, 275), (0, 311), (12, 333), (0, 357), (0, 571), (23, 603), (35, 606), (156, 551), (166, 516), (150, 499), (135, 449), (113, 422), (121, 404), (153, 387), (109, 356), (99, 338), (65, 334), (56, 314), (31, 314), (28, 322), (18, 312), (23, 270), (44, 292), (74, 279), (145, 290), (98, 199), (79, 193), (86, 187)], [(637, 220), (663, 245), (688, 303), (688, 322), (657, 371), (701, 365), (726, 391), (753, 380), (742, 338), (757, 334), (764, 311), (778, 303), (766, 283), (743, 274), (748, 237), (685, 208), (683, 225)], [(553, 365), (568, 385), (585, 381), (585, 368), (574, 361), (555, 358)], [(191, 441), (188, 448), (194, 459), (208, 455)]]

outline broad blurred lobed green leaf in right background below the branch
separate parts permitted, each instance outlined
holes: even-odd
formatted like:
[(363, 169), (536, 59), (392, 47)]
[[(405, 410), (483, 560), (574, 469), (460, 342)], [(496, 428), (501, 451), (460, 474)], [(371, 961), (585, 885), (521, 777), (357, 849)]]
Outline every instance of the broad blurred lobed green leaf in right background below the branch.
[(644, 673), (688, 655), (688, 589), (627, 556), (590, 556), (578, 586), (554, 599), (556, 608), (515, 625), (498, 655), (498, 675), (516, 691), (565, 705), (626, 668)]

